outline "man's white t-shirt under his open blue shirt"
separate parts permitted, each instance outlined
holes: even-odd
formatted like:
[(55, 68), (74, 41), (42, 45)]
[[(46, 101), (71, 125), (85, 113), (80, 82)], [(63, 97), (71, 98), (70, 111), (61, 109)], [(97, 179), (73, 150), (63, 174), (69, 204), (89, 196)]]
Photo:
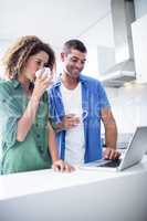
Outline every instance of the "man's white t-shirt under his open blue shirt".
[(74, 90), (67, 90), (61, 85), (62, 101), (65, 109), (65, 115), (76, 114), (81, 123), (72, 129), (66, 130), (65, 136), (65, 161), (71, 165), (80, 165), (84, 162), (85, 141), (84, 141), (84, 125), (82, 109), (82, 87), (81, 83)]

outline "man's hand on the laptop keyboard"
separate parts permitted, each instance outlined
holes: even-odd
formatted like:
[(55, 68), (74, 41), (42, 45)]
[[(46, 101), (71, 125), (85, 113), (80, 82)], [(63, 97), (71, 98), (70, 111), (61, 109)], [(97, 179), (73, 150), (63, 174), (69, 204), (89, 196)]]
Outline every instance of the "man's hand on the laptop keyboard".
[(120, 157), (120, 152), (117, 149), (106, 147), (103, 152), (104, 159), (118, 159)]

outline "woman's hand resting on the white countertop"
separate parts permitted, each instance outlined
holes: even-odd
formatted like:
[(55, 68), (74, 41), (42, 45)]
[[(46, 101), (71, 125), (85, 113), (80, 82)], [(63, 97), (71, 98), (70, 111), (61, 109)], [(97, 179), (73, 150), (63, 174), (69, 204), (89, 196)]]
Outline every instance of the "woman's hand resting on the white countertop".
[(52, 168), (54, 171), (61, 171), (61, 172), (72, 172), (74, 171), (74, 167), (69, 165), (67, 162), (64, 162), (62, 159), (55, 160), (52, 165)]

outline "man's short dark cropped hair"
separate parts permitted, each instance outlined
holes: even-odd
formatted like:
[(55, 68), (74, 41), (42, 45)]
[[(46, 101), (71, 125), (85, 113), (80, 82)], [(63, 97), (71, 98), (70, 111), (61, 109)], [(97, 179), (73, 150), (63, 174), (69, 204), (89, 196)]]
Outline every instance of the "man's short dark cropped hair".
[(77, 39), (72, 39), (72, 40), (69, 40), (69, 41), (66, 41), (64, 43), (63, 51), (65, 53), (70, 53), (71, 49), (77, 50), (77, 51), (80, 51), (82, 53), (86, 53), (87, 52), (86, 46), (84, 45), (84, 43), (81, 42)]

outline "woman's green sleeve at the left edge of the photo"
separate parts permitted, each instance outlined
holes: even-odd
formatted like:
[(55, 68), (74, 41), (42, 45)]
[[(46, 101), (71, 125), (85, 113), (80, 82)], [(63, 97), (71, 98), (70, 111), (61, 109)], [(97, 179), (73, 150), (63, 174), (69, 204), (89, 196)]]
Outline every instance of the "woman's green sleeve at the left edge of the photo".
[(1, 143), (10, 148), (17, 141), (18, 119), (21, 113), (8, 85), (0, 84), (0, 133)]

